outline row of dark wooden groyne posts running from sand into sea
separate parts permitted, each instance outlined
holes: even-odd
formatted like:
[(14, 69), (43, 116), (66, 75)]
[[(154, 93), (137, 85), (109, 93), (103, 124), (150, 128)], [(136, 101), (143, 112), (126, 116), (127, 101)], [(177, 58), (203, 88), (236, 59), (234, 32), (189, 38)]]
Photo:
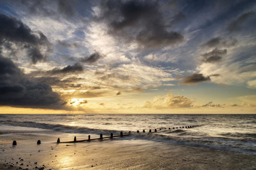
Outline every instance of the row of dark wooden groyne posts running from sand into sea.
[[(194, 125), (194, 126), (185, 126), (185, 128), (193, 128), (193, 127), (196, 127), (196, 125)], [(180, 128), (184, 128), (184, 126), (182, 126), (182, 127), (180, 126)], [(164, 129), (166, 129), (166, 128), (164, 128)], [(168, 128), (168, 129), (170, 130), (171, 128)], [(172, 129), (178, 129), (178, 127), (176, 127), (176, 128), (173, 127)], [(161, 131), (161, 130), (162, 130), (162, 129), (160, 128), (159, 131)], [(143, 130), (142, 132), (143, 132), (143, 133), (146, 133), (145, 130)], [(157, 132), (157, 130), (155, 129), (155, 131), (151, 131), (151, 129), (149, 129), (149, 131), (148, 131), (147, 133), (154, 133), (154, 132)], [(137, 131), (137, 133), (140, 133), (140, 131)], [(91, 140), (103, 140), (103, 139), (105, 139), (105, 138), (124, 137), (124, 136), (128, 136), (128, 135), (131, 135), (131, 134), (132, 134), (131, 131), (129, 131), (128, 134), (123, 134), (123, 132), (121, 131), (121, 132), (120, 132), (120, 135), (113, 135), (113, 133), (111, 133), (110, 136), (105, 136), (105, 137), (103, 137), (103, 135), (100, 134), (100, 138), (93, 138), (93, 139), (91, 139), (91, 135), (88, 135), (88, 139), (84, 139), (84, 140), (76, 140), (76, 136), (75, 136), (73, 141), (66, 141), (66, 142), (60, 142), (60, 138), (58, 138), (57, 142), (55, 142), (55, 143), (57, 143), (57, 144), (59, 144), (59, 143), (76, 143), (76, 142), (85, 142), (85, 141), (91, 141)], [(41, 141), (38, 140), (38, 141), (37, 141), (37, 144), (38, 144), (38, 145), (41, 144)], [(12, 145), (17, 145), (16, 140), (14, 140), (14, 141), (12, 142)]]

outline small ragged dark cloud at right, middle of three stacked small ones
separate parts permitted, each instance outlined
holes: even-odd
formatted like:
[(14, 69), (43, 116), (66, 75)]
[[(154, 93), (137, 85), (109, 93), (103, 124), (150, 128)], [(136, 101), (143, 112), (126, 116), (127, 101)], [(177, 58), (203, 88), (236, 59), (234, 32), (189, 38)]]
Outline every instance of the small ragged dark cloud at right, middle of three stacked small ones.
[(218, 48), (215, 48), (208, 53), (201, 54), (201, 56), (204, 57), (204, 59), (202, 60), (203, 62), (214, 63), (220, 61), (222, 59), (222, 56), (226, 54), (227, 49), (220, 50)]

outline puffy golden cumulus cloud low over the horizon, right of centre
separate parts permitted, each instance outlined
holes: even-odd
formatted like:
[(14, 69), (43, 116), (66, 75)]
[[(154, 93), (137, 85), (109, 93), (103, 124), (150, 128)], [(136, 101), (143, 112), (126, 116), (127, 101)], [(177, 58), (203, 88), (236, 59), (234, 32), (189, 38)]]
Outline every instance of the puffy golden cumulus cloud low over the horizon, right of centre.
[(184, 96), (174, 96), (167, 93), (165, 96), (155, 96), (153, 102), (146, 101), (142, 108), (156, 108), (156, 109), (169, 109), (169, 108), (190, 108), (193, 107), (191, 99)]

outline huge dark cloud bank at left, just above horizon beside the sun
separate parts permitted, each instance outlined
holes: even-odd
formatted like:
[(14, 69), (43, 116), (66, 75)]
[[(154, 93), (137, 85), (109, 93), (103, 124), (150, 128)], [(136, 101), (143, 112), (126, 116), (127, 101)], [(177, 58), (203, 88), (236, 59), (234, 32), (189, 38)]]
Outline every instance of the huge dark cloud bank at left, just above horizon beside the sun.
[(62, 103), (51, 86), (30, 80), (12, 60), (0, 56), (0, 105), (53, 108)]

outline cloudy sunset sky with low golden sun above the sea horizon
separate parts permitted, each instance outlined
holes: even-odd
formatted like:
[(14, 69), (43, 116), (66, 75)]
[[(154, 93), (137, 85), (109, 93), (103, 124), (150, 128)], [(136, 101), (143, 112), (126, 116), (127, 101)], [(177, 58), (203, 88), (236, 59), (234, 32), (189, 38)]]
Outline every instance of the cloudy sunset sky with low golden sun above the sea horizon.
[(1, 0), (0, 113), (256, 113), (256, 1)]

